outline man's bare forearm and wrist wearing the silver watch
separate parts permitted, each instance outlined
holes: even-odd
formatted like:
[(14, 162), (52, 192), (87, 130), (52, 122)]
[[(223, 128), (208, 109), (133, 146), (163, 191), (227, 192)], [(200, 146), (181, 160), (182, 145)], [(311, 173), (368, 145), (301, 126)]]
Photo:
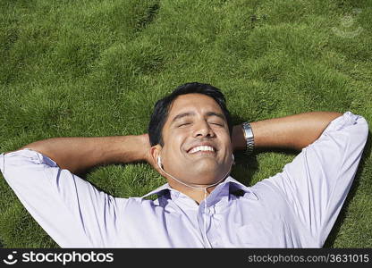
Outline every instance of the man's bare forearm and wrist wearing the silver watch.
[[(255, 148), (289, 148), (300, 151), (319, 138), (327, 125), (341, 115), (342, 113), (334, 112), (310, 112), (250, 122)], [(234, 126), (233, 150), (243, 150), (245, 147), (241, 125)]]

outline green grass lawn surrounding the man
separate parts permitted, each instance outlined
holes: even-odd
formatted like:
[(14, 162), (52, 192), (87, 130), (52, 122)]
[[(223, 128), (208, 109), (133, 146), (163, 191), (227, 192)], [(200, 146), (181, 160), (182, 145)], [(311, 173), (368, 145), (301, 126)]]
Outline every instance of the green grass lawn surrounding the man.
[[(3, 0), (0, 151), (144, 133), (156, 100), (189, 81), (222, 88), (235, 122), (309, 111), (371, 122), (371, 29), (368, 0)], [(325, 247), (372, 247), (370, 147)], [(251, 185), (293, 157), (240, 156), (233, 175)], [(165, 182), (145, 163), (86, 179), (118, 197)], [(3, 247), (57, 247), (4, 180), (0, 196)]]

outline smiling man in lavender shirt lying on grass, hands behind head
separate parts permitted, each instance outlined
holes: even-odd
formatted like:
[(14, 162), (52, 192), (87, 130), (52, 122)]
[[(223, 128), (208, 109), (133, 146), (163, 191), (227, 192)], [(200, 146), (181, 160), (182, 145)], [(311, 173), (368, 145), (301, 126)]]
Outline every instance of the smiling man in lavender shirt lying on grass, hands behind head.
[[(219, 89), (189, 83), (156, 103), (148, 134), (41, 140), (2, 154), (0, 167), (61, 247), (322, 247), (367, 137), (367, 121), (350, 112), (232, 126)], [(232, 153), (258, 147), (300, 154), (246, 187), (229, 176)], [(148, 194), (155, 201), (112, 197), (76, 175), (138, 161), (168, 181)]]

